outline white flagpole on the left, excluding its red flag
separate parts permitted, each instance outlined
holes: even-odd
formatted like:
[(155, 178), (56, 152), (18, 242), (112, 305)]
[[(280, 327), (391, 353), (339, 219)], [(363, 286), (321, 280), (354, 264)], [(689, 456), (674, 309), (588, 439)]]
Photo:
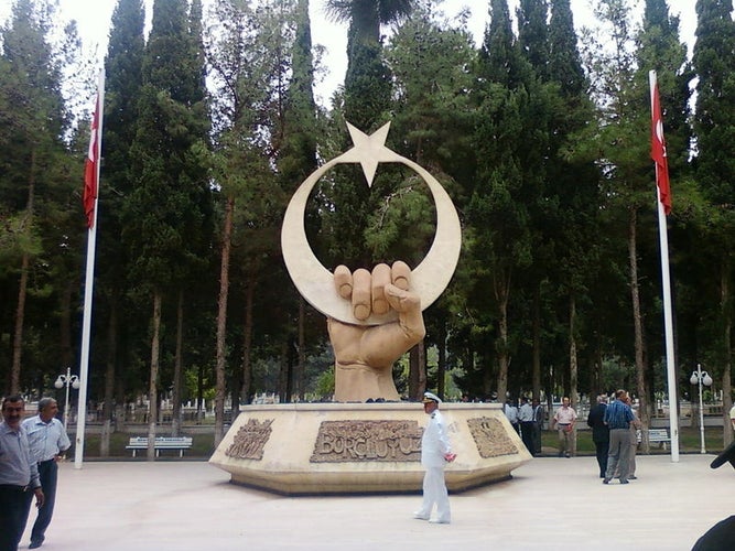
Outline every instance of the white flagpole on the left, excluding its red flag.
[(96, 136), (95, 158), (97, 160), (95, 170), (95, 181), (97, 191), (95, 194), (95, 210), (93, 213), (93, 223), (87, 236), (87, 270), (84, 284), (84, 314), (82, 321), (82, 352), (79, 358), (79, 395), (76, 420), (76, 441), (74, 446), (74, 468), (82, 468), (84, 462), (84, 432), (87, 421), (87, 380), (89, 379), (89, 341), (91, 333), (91, 303), (94, 300), (95, 287), (95, 253), (97, 249), (97, 205), (99, 201), (99, 169), (101, 165), (102, 151), (102, 118), (105, 106), (105, 69), (99, 72), (99, 82), (97, 84), (97, 105), (95, 112), (98, 117)]

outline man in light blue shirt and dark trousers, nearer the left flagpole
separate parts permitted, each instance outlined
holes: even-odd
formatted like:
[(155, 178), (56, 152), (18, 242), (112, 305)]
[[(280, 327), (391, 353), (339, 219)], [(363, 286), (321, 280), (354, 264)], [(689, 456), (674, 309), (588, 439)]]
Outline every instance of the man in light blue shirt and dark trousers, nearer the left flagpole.
[(23, 421), (23, 430), (28, 434), (31, 454), (39, 464), (39, 476), (45, 495), (44, 504), (39, 508), (39, 516), (31, 531), (29, 549), (40, 548), (46, 539), (46, 528), (54, 515), (56, 499), (58, 477), (56, 462), (72, 446), (64, 425), (56, 419), (56, 413), (58, 413), (56, 400), (42, 398), (39, 400), (39, 414)]

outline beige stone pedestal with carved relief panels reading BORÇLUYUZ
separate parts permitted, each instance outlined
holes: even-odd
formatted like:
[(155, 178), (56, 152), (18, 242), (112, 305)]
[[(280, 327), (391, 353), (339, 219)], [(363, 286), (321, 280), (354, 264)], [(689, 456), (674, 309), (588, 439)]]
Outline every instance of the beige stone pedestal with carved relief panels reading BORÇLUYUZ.
[[(531, 460), (497, 403), (442, 403), (450, 491), (510, 477)], [(248, 406), (209, 458), (231, 482), (285, 495), (421, 490), (421, 403)]]

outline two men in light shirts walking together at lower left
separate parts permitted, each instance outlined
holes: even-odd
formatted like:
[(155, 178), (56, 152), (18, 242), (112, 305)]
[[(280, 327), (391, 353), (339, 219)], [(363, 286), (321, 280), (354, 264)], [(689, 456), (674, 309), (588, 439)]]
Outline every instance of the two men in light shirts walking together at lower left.
[(23, 420), (21, 396), (2, 400), (0, 422), (0, 551), (15, 551), (35, 496), (37, 518), (29, 549), (43, 544), (56, 497), (57, 462), (71, 447), (58, 406), (53, 398), (39, 400), (39, 414)]

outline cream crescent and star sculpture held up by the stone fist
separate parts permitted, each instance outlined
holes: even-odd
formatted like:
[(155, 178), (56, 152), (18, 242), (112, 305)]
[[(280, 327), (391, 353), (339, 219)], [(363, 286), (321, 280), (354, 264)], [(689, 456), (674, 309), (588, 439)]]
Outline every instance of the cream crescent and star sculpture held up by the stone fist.
[(429, 307), (450, 283), (460, 259), (462, 228), (460, 217), (444, 187), (419, 164), (386, 148), (390, 122), (374, 134), (367, 136), (349, 122), (347, 128), (355, 147), (314, 171), (291, 197), (281, 228), (281, 249), (285, 267), (301, 295), (323, 314), (354, 325), (381, 325), (398, 320), (390, 311), (383, 315), (371, 314), (367, 320), (357, 320), (350, 301), (339, 296), (334, 287), (333, 274), (314, 255), (304, 228), (306, 202), (314, 185), (333, 166), (342, 163), (360, 163), (368, 181), (381, 162), (401, 163), (415, 171), (429, 186), (436, 207), (436, 234), (429, 252), (411, 272), (411, 291), (421, 298), (421, 310)]

